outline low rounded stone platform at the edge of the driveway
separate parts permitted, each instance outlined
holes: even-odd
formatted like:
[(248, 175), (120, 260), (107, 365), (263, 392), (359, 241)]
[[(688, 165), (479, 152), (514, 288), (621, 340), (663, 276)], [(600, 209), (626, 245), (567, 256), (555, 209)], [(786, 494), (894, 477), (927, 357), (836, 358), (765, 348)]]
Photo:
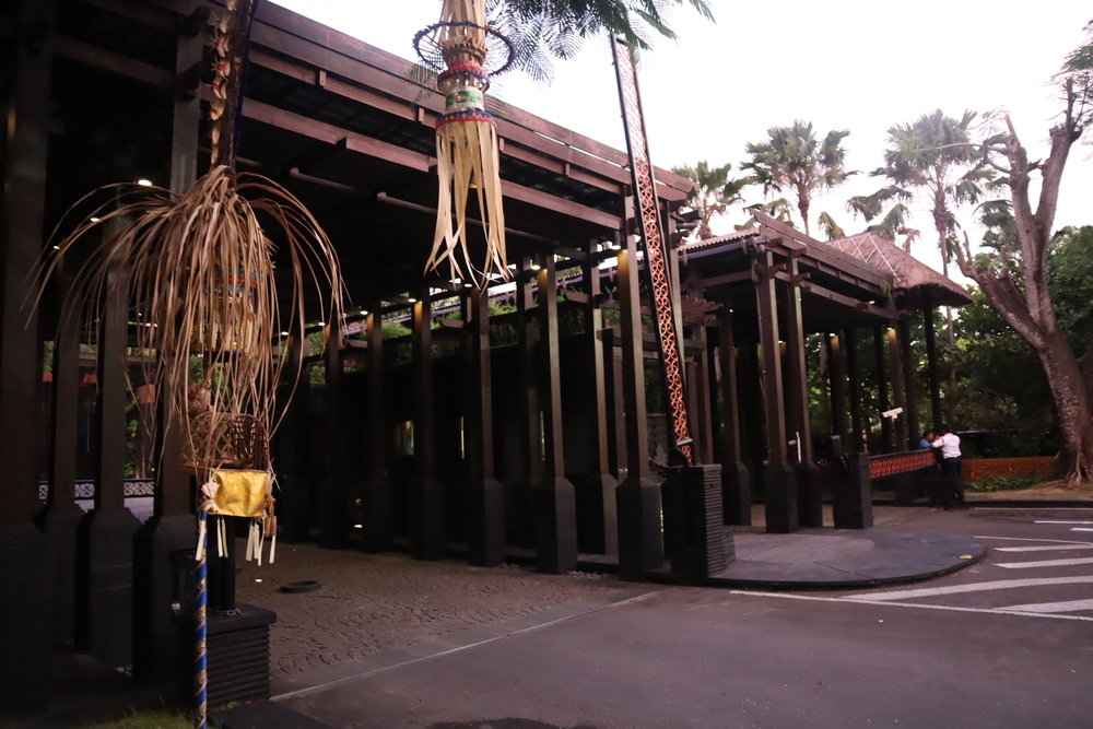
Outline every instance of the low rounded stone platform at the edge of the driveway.
[(731, 530), (736, 558), (706, 578), (679, 578), (656, 569), (657, 581), (766, 589), (841, 589), (929, 579), (978, 562), (983, 544), (948, 531), (910, 529), (802, 529), (768, 534)]

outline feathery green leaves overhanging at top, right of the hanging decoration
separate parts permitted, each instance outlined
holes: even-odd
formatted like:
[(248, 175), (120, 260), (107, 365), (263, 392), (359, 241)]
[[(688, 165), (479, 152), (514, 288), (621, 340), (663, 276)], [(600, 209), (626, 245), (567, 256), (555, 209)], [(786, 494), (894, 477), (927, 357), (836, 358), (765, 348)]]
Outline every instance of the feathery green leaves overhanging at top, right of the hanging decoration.
[(684, 3), (714, 20), (705, 0), (487, 0), (486, 14), (515, 44), (517, 66), (546, 81), (551, 57), (572, 58), (584, 38), (600, 31), (621, 35), (640, 50), (649, 48), (650, 30), (674, 39), (665, 9)]

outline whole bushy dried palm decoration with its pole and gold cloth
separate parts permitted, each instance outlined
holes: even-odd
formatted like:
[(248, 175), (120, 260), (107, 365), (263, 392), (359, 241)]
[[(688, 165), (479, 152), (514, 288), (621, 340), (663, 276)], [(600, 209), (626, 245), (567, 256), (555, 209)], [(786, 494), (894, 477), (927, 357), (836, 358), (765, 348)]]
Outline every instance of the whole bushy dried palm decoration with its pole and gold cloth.
[[(255, 519), (248, 557), (261, 560), (261, 537), (275, 533), (269, 438), (285, 407), (275, 402), (277, 388), (282, 378), (295, 383), (302, 366), (289, 361), (281, 332), (304, 339), (306, 289), (324, 320), (340, 319), (343, 285), (333, 246), (303, 203), (275, 181), (233, 168), (255, 4), (227, 0), (226, 14), (213, 21), (209, 172), (181, 196), (128, 184), (89, 193), (59, 224), (43, 281), (74, 247), (97, 244), (77, 273), (66, 316), (84, 310), (94, 328), (107, 289), (126, 292), (142, 314), (136, 345), (155, 354), (145, 381), (161, 384), (179, 414), (168, 422), (183, 424), (184, 462), (205, 484), (202, 512)], [(117, 234), (99, 238), (111, 220)], [(287, 309), (274, 284), (279, 249)]]

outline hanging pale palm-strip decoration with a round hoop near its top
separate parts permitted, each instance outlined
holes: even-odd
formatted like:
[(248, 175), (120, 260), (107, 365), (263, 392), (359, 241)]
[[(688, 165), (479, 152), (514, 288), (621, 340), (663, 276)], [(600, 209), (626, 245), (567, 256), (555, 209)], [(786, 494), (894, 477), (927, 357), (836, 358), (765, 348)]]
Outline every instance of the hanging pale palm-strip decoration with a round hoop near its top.
[[(485, 0), (444, 0), (439, 22), (420, 31), (413, 44), (422, 62), (439, 72), (436, 85), (444, 94), (436, 122), (436, 233), (425, 271), (447, 262), (454, 280), (480, 287), (495, 274), (507, 279), (497, 129), (484, 94), (490, 75), (512, 64), (513, 44), (486, 24)], [(481, 266), (472, 262), (467, 240), (470, 190), (485, 234)]]

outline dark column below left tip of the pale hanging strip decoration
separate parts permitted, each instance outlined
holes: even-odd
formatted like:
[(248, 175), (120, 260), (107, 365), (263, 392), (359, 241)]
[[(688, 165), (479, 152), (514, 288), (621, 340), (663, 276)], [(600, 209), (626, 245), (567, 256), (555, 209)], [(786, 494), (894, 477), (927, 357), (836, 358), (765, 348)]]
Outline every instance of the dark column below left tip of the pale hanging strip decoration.
[(435, 401), (433, 393), (433, 305), (428, 286), (413, 302), (413, 452), (409, 484), (410, 554), (415, 560), (444, 556), (444, 490), (436, 480)]

